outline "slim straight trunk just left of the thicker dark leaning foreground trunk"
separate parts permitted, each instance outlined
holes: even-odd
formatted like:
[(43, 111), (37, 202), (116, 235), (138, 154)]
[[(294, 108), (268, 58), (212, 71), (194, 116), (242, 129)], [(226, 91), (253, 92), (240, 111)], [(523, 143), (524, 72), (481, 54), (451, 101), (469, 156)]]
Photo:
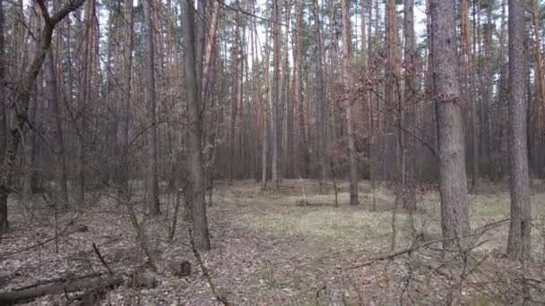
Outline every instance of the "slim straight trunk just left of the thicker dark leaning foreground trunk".
[(147, 199), (148, 208), (152, 216), (160, 214), (159, 202), (159, 169), (158, 169), (158, 154), (157, 154), (157, 95), (155, 93), (155, 43), (153, 35), (153, 18), (151, 17), (154, 1), (143, 1), (144, 12), (144, 53), (146, 61), (145, 80), (146, 80), (146, 105), (148, 106), (148, 114), (150, 115), (151, 129), (147, 132), (148, 136), (148, 175), (151, 174), (148, 193), (150, 197)]

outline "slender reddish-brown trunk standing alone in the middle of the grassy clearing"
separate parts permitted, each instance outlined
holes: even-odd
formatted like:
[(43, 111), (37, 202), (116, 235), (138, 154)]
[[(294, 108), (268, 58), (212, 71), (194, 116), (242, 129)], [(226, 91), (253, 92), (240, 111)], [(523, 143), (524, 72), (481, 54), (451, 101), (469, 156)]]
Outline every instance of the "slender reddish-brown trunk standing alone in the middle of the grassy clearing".
[(350, 35), (350, 17), (346, 0), (341, 0), (342, 9), (342, 81), (344, 82), (344, 106), (346, 107), (346, 130), (348, 137), (348, 155), (350, 167), (350, 205), (358, 205), (358, 156), (354, 139), (354, 127), (352, 126), (351, 116), (351, 35)]

